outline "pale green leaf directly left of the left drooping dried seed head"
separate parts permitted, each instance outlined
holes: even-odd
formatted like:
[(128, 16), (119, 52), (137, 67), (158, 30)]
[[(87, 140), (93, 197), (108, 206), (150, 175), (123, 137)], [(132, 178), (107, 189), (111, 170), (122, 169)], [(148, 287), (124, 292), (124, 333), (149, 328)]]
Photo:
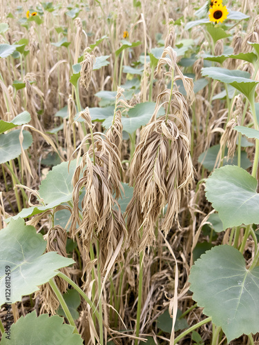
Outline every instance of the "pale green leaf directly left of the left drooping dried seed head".
[(68, 171), (68, 161), (64, 161), (58, 166), (54, 166), (48, 172), (46, 179), (41, 181), (39, 186), (39, 196), (44, 199), (44, 204), (52, 202), (66, 202), (72, 199), (72, 178), (77, 167), (77, 160), (70, 162)]

